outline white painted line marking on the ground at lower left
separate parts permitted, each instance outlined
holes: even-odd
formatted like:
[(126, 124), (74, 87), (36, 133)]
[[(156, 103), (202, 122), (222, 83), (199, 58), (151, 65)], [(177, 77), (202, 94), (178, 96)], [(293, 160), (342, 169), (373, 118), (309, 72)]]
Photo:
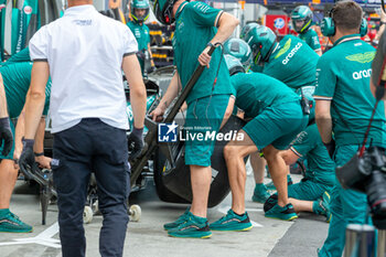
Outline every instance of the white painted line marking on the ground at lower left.
[(8, 245), (26, 245), (26, 244), (37, 244), (37, 245), (44, 245), (52, 248), (61, 248), (61, 240), (52, 238), (54, 235), (58, 233), (58, 224), (55, 222), (52, 226), (50, 226), (47, 229), (43, 231), (35, 237), (28, 237), (28, 238), (14, 238), (15, 242), (2, 242), (0, 243), (0, 246), (8, 246)]

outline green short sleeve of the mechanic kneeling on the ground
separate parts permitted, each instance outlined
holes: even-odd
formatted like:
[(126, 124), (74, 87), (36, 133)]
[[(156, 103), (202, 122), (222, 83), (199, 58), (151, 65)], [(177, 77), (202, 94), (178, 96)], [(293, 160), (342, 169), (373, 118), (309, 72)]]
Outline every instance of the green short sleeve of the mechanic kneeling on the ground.
[(309, 151), (318, 146), (319, 131), (317, 125), (309, 126), (304, 131), (299, 133), (298, 138), (291, 146), (291, 151), (299, 158), (304, 157)]

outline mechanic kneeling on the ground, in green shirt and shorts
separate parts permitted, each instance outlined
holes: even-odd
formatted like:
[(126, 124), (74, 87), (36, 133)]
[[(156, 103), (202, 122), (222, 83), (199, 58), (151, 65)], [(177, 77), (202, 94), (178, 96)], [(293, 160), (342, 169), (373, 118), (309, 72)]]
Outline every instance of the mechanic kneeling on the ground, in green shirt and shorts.
[(318, 126), (312, 124), (299, 133), (290, 149), (282, 153), (287, 165), (305, 158), (307, 170), (301, 182), (288, 186), (289, 202), (297, 213), (313, 212), (331, 219), (330, 191), (335, 181), (335, 163), (331, 160)]

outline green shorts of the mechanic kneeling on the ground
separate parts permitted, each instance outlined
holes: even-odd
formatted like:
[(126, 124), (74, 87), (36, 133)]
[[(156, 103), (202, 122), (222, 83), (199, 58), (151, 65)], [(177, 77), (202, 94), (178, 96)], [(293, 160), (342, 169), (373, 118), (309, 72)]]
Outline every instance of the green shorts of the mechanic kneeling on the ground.
[(288, 186), (288, 197), (303, 200), (303, 201), (315, 201), (322, 197), (325, 191), (331, 192), (332, 186), (322, 183), (317, 183), (312, 180), (301, 181), (296, 184)]

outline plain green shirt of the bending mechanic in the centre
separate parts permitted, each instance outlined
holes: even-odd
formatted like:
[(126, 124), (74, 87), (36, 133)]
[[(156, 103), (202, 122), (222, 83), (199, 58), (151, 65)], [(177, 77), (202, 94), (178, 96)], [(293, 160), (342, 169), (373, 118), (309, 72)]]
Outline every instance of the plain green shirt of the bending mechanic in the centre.
[(235, 105), (248, 118), (258, 116), (269, 106), (300, 99), (286, 84), (261, 73), (238, 73), (230, 82), (236, 92)]

